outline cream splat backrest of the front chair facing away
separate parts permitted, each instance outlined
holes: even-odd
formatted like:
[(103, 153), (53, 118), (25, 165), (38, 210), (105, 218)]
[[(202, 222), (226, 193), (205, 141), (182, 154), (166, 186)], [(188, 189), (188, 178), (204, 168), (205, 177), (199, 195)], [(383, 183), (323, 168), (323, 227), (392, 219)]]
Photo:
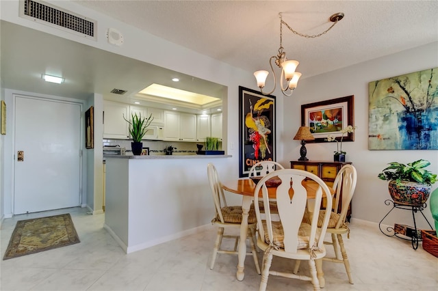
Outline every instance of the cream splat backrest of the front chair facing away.
[[(259, 210), (259, 193), (261, 191), (261, 193), (263, 194), (263, 204), (268, 205), (269, 196), (266, 181), (275, 176), (278, 176), (281, 180), (281, 184), (276, 187), (276, 190), (274, 192), (278, 208), (278, 215), (280, 217), (281, 225), (284, 231), (283, 243), (285, 251), (289, 253), (296, 253), (297, 249), (302, 249), (302, 247), (298, 247), (298, 230), (300, 230), (300, 225), (302, 222), (302, 218), (305, 214), (307, 204), (307, 189), (305, 188), (305, 186), (302, 185), (303, 180), (306, 180), (305, 183), (313, 183), (313, 185), (316, 186), (315, 188), (317, 189), (315, 194), (315, 204), (312, 209), (313, 217), (311, 219), (308, 240), (308, 242), (313, 243), (309, 243), (307, 248), (322, 248), (324, 244), (324, 236), (326, 234), (327, 225), (330, 219), (330, 212), (327, 211), (324, 215), (322, 227), (320, 228), (320, 231), (317, 232), (318, 216), (320, 212), (320, 204), (323, 193), (326, 196), (327, 207), (331, 208), (332, 206), (330, 189), (329, 186), (324, 183), (324, 181), (318, 178), (318, 176), (300, 169), (281, 169), (278, 171), (274, 171), (263, 177), (257, 183), (254, 192), (254, 204), (255, 213), (257, 216), (257, 231), (259, 232), (259, 236), (261, 238), (265, 237), (265, 230), (263, 230), (263, 221), (261, 219), (261, 212)], [(289, 194), (289, 192), (291, 194)], [(292, 199), (290, 195), (292, 195)], [(264, 211), (265, 216), (263, 220), (266, 220), (266, 230), (268, 232), (268, 238), (270, 242), (273, 242), (274, 238), (272, 223), (278, 223), (278, 221), (272, 219), (270, 208), (266, 208)]]

